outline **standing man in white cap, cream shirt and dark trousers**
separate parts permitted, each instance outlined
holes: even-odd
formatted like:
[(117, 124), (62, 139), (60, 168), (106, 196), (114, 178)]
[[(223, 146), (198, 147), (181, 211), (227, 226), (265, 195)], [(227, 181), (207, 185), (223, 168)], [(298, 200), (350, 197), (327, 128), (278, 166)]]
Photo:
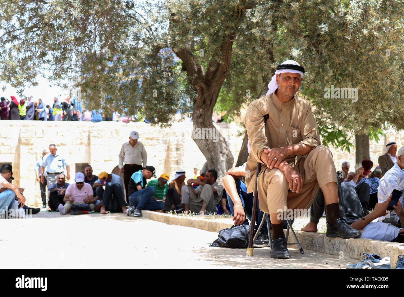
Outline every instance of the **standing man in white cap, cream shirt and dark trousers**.
[[(126, 200), (129, 199), (128, 183), (133, 173), (142, 170), (147, 165), (147, 153), (143, 144), (138, 141), (139, 133), (132, 131), (129, 134), (129, 141), (122, 144), (119, 153), (119, 169), (124, 174)], [(143, 162), (143, 166), (142, 166)], [(125, 164), (124, 164), (125, 163)]]

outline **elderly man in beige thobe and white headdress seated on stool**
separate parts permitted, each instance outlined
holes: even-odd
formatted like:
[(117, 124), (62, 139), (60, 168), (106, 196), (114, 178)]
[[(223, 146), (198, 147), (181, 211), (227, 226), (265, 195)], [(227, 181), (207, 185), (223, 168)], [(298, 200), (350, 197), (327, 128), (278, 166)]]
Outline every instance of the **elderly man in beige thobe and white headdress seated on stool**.
[(257, 162), (263, 163), (257, 182), (259, 205), (269, 213), (274, 240), (271, 258), (277, 259), (289, 258), (283, 219), (290, 211), (308, 209), (319, 187), (326, 202), (327, 236), (355, 238), (361, 234), (340, 218), (332, 154), (321, 145), (311, 105), (295, 96), (303, 73), (304, 68), (293, 60), (278, 65), (267, 95), (251, 102), (245, 117), (251, 147), (246, 184), (248, 192), (253, 192)]

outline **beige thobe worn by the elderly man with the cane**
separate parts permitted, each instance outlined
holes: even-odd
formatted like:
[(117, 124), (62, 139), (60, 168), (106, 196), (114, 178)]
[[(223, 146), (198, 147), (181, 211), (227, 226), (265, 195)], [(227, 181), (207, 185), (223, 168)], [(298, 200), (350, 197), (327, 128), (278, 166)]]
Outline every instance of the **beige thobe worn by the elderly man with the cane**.
[[(266, 114), (269, 118), (264, 131)], [(257, 190), (260, 209), (265, 213), (279, 213), (285, 208), (307, 209), (313, 203), (319, 186), (331, 181), (337, 183), (332, 154), (320, 143), (318, 125), (307, 101), (294, 96), (284, 103), (275, 94), (269, 94), (250, 103), (244, 123), (251, 148), (246, 164), (249, 193), (254, 192), (257, 161), (263, 163), (260, 160), (263, 150), (295, 143), (313, 147), (304, 156), (288, 156), (285, 159), (303, 178), (303, 188), (299, 193), (289, 190), (289, 183), (280, 169), (269, 169), (263, 163)]]

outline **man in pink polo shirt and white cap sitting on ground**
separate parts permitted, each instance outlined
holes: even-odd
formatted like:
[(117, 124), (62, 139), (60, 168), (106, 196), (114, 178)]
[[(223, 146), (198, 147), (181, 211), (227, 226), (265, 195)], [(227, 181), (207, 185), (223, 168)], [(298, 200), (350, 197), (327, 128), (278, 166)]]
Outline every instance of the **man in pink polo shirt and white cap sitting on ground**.
[(91, 211), (94, 211), (94, 194), (93, 188), (88, 183), (84, 183), (84, 174), (76, 173), (74, 176), (75, 183), (69, 185), (66, 189), (63, 202), (65, 205), (59, 204), (57, 207), (61, 215), (69, 213), (73, 204), (88, 204)]

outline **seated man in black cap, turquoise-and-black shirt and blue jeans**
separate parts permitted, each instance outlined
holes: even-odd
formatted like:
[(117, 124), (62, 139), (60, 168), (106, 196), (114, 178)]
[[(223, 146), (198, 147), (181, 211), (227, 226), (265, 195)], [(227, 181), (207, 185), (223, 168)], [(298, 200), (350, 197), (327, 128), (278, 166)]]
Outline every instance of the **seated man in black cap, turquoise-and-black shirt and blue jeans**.
[(146, 166), (145, 169), (133, 173), (130, 177), (128, 185), (130, 207), (126, 210), (126, 215), (133, 213), (134, 217), (141, 217), (142, 210), (158, 211), (164, 207), (164, 202), (154, 198), (155, 187), (146, 187), (144, 183), (145, 179), (155, 176), (155, 172), (153, 166)]

